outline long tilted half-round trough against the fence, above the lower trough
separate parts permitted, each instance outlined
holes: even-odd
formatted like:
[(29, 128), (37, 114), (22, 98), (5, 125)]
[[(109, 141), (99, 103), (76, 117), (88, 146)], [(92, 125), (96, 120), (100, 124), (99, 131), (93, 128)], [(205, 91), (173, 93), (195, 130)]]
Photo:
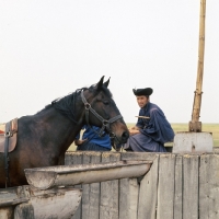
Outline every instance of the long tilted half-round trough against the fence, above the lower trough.
[(118, 161), (99, 164), (58, 165), (25, 169), (30, 185), (47, 189), (54, 186), (90, 184), (145, 175), (152, 161)]

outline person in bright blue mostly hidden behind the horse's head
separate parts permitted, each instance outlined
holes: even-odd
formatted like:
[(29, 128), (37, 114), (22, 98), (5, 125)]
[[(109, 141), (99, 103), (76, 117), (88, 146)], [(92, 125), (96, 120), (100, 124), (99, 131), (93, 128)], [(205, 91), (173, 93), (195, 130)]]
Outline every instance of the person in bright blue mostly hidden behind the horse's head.
[(78, 151), (111, 151), (111, 138), (108, 134), (100, 137), (99, 131), (101, 128), (96, 126), (83, 126), (84, 132), (82, 139), (80, 140), (80, 135), (76, 137), (74, 143)]

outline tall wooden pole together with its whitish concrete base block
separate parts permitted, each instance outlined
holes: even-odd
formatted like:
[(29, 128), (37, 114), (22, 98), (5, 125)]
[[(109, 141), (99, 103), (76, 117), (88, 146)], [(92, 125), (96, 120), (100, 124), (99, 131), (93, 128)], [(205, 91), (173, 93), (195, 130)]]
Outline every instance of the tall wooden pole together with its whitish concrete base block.
[(212, 152), (212, 135), (211, 132), (201, 131), (201, 123), (199, 122), (205, 50), (205, 11), (206, 0), (200, 0), (198, 70), (192, 120), (189, 122), (188, 131), (176, 132), (173, 141), (174, 153)]

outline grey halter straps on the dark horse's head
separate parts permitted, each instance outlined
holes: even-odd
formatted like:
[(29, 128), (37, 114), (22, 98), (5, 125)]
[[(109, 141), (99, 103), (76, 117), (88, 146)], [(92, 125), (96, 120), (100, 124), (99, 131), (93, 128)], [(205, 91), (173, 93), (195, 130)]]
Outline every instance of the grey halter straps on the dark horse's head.
[[(90, 128), (92, 128), (91, 125), (90, 125), (90, 123), (89, 123), (89, 112), (91, 112), (96, 118), (99, 118), (99, 119), (102, 122), (101, 130), (100, 130), (99, 132), (96, 132), (94, 129), (93, 129), (93, 130), (94, 130), (100, 137), (103, 136), (104, 130), (106, 130), (106, 131), (110, 134), (111, 139), (112, 139), (112, 138), (116, 138), (116, 139), (117, 139), (116, 135), (111, 130), (110, 125), (111, 125), (112, 123), (114, 123), (114, 122), (116, 122), (116, 120), (123, 118), (123, 116), (122, 116), (122, 115), (117, 115), (117, 116), (115, 116), (115, 117), (113, 117), (113, 118), (106, 120), (106, 119), (104, 119), (101, 115), (99, 115), (99, 114), (95, 112), (95, 110), (93, 110), (93, 108), (91, 107), (91, 104), (88, 103), (88, 101), (85, 100), (85, 97), (84, 97), (84, 95), (83, 95), (83, 91), (81, 91), (81, 99), (82, 99), (82, 102), (83, 102), (84, 107), (85, 107), (85, 122), (87, 122), (87, 125), (88, 125)], [(117, 139), (117, 141), (119, 142), (118, 139)]]

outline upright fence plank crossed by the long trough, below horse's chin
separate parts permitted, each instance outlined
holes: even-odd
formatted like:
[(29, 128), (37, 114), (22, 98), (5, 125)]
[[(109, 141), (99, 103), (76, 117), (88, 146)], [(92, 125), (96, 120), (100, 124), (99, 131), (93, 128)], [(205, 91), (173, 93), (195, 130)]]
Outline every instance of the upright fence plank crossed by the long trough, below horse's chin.
[[(102, 153), (102, 162), (119, 160), (120, 153)], [(118, 180), (101, 183), (100, 219), (118, 219)]]

